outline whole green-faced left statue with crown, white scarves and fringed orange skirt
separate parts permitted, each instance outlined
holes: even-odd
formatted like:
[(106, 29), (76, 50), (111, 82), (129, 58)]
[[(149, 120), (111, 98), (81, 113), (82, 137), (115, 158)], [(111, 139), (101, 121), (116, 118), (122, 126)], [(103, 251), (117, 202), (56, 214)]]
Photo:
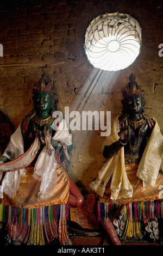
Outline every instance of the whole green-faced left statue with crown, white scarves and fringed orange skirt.
[[(34, 108), (1, 156), (5, 175), (1, 175), (0, 206), (5, 217), (0, 221), (9, 244), (68, 245), (68, 205), (80, 206), (84, 200), (68, 175), (72, 135), (53, 118), (58, 97), (48, 76), (43, 74), (33, 94)], [(62, 123), (66, 125), (64, 119)]]

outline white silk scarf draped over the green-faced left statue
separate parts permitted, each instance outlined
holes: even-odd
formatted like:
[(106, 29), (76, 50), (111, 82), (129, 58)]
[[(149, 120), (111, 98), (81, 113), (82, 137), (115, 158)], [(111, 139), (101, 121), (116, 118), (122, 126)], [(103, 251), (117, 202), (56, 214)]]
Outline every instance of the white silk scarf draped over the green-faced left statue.
[[(64, 127), (64, 129), (60, 129), (60, 126)], [(52, 139), (65, 143), (66, 145), (72, 144), (72, 135), (69, 133), (64, 119), (61, 121)], [(3, 198), (3, 192), (9, 197), (15, 196), (20, 185), (20, 175), (26, 173), (26, 169), (21, 167), (26, 167), (26, 164), (29, 162), (29, 158), (32, 158), (36, 154), (38, 143), (40, 143), (39, 139), (36, 138), (33, 143), (33, 147), (29, 150), (29, 154), (27, 154), (27, 156), (21, 161), (15, 163), (14, 160), (24, 154), (24, 143), (20, 125), (11, 135), (8, 147), (4, 151), (4, 155), (7, 156), (11, 162), (8, 163), (9, 166), (7, 163), (0, 164), (0, 170), (7, 172), (5, 173), (0, 187), (1, 198)], [(11, 151), (11, 157), (7, 154), (9, 151)], [(12, 171), (8, 172), (9, 168)], [(55, 187), (57, 186), (57, 161), (54, 157), (54, 151), (51, 156), (47, 154), (46, 146), (42, 149), (35, 163), (33, 176), (36, 180), (41, 180), (38, 198), (43, 197), (43, 194), (48, 193), (49, 191), (52, 192), (55, 190)]]

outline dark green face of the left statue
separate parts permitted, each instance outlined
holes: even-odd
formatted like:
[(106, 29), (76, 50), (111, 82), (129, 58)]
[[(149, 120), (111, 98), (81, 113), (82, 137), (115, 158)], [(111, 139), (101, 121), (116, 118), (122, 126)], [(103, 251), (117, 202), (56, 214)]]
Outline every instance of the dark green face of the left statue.
[(34, 96), (34, 106), (36, 112), (49, 112), (52, 107), (51, 95), (46, 91), (36, 93)]

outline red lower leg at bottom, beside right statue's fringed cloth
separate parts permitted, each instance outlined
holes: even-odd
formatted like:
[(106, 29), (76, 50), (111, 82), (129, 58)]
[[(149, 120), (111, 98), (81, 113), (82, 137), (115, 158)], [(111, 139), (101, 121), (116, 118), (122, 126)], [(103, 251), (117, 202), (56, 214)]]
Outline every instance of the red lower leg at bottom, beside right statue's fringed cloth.
[[(112, 244), (121, 245), (121, 242), (118, 239), (118, 236), (116, 234), (114, 226), (112, 225), (111, 220), (108, 220), (107, 222), (104, 222), (103, 220), (101, 220), (100, 223), (102, 224), (102, 227), (104, 228), (106, 235), (108, 235), (109, 240), (111, 240)], [(106, 245), (106, 240), (104, 241), (104, 245)]]

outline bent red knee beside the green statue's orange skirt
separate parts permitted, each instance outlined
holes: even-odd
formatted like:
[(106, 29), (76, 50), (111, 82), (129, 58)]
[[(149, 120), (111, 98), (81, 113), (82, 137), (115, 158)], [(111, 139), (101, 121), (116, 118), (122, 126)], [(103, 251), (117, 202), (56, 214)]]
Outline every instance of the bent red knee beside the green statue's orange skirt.
[(69, 176), (70, 182), (70, 197), (69, 197), (69, 204), (70, 206), (79, 207), (82, 206), (84, 202), (84, 197), (80, 193), (76, 184), (74, 184), (73, 180)]

